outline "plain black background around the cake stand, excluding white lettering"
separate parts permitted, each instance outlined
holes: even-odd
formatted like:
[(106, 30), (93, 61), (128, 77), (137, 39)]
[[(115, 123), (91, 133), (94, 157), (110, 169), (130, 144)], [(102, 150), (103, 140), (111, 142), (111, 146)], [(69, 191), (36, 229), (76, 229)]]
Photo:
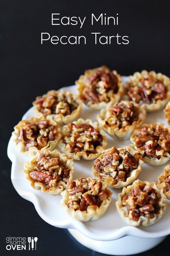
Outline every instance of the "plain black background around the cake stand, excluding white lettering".
[[(101, 255), (81, 246), (67, 230), (54, 228), (37, 214), (34, 205), (22, 199), (10, 180), (11, 162), (7, 143), (14, 125), (32, 106), (37, 95), (74, 84), (85, 69), (102, 64), (122, 75), (155, 70), (170, 76), (169, 1), (0, 1), (0, 95), (1, 95), (1, 239), (6, 255)], [(52, 26), (51, 13), (86, 16), (77, 26)], [(91, 13), (116, 16), (118, 26), (91, 26)], [(50, 36), (86, 36), (86, 45), (41, 45), (41, 32)], [(94, 44), (91, 32), (129, 36), (129, 44)], [(6, 251), (8, 236), (37, 236), (35, 252)], [(158, 247), (141, 255), (169, 255), (168, 237)]]

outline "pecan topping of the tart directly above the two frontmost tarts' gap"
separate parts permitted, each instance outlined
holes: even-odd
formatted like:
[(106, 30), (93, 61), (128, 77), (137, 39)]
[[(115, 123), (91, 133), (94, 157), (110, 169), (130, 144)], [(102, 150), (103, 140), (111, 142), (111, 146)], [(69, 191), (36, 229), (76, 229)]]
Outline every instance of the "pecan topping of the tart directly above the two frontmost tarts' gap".
[(131, 171), (138, 166), (138, 160), (130, 152), (130, 149), (118, 151), (115, 147), (105, 151), (101, 160), (94, 161), (97, 176), (105, 178), (109, 175), (115, 180), (115, 184), (125, 182)]

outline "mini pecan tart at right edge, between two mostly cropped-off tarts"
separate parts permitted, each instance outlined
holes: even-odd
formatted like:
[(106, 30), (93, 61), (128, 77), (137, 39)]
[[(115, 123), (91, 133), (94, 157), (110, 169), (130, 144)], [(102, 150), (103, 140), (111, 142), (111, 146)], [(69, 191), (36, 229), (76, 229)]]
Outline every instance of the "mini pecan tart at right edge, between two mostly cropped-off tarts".
[(170, 128), (165, 124), (143, 124), (141, 129), (135, 129), (130, 137), (134, 148), (142, 155), (146, 164), (165, 164), (170, 159)]

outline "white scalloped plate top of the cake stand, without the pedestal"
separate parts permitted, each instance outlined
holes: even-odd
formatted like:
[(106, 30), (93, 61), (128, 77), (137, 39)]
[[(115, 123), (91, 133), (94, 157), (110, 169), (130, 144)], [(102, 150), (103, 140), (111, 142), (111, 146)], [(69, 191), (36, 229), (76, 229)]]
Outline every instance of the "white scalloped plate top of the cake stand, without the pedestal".
[[(123, 77), (123, 82), (127, 81), (127, 77)], [(70, 86), (62, 88), (64, 90), (75, 93), (76, 86)], [(96, 116), (99, 111), (91, 110), (83, 105), (83, 110), (81, 113), (81, 118), (91, 119), (92, 121), (97, 121)], [(35, 116), (34, 108), (30, 108), (27, 113), (23, 116), (23, 119), (30, 119)], [(164, 112), (159, 111), (155, 113), (147, 113), (147, 118), (145, 123), (151, 122), (163, 122), (167, 125), (164, 119)], [(115, 146), (116, 148), (123, 147), (130, 144), (130, 140), (126, 141), (115, 141), (107, 135), (107, 148)], [(83, 235), (101, 241), (110, 241), (119, 239), (125, 235), (137, 236), (141, 238), (156, 238), (161, 236), (166, 236), (170, 234), (170, 201), (168, 201), (168, 207), (164, 216), (154, 225), (148, 227), (132, 227), (128, 226), (119, 216), (115, 201), (118, 199), (118, 193), (121, 189), (112, 189), (112, 202), (104, 214), (104, 216), (96, 221), (80, 222), (67, 215), (65, 210), (61, 207), (62, 196), (53, 196), (46, 193), (42, 193), (41, 190), (34, 190), (28, 180), (25, 179), (23, 173), (23, 164), (25, 161), (29, 160), (28, 153), (20, 153), (19, 148), (16, 147), (12, 138), (8, 145), (8, 156), (12, 161), (11, 179), (14, 188), (24, 199), (31, 201), (35, 209), (37, 210), (40, 217), (47, 223), (59, 227), (59, 228), (73, 228), (77, 229)], [(93, 177), (91, 167), (94, 160), (86, 161), (74, 161), (74, 176), (73, 179), (80, 177)], [(170, 164), (167, 162), (167, 164)], [(167, 165), (160, 166), (150, 166), (143, 164), (142, 172), (138, 175), (138, 178), (142, 181), (157, 182), (157, 177), (161, 174), (164, 167)]]

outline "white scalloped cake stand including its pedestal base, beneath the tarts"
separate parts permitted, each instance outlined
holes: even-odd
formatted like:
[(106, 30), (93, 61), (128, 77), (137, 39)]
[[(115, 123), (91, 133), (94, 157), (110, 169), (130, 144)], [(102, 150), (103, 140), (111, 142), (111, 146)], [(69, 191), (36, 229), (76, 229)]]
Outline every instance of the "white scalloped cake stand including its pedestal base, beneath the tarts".
[[(125, 82), (127, 77), (123, 77)], [(64, 90), (76, 92), (76, 86), (65, 87)], [(96, 120), (99, 111), (94, 111), (83, 106), (81, 118)], [(35, 116), (34, 108), (30, 108), (23, 116), (23, 119), (30, 119)], [(145, 123), (163, 122), (165, 124), (163, 111), (148, 113)], [(107, 148), (117, 148), (130, 144), (128, 141), (114, 141), (107, 136)], [(50, 225), (58, 228), (68, 228), (71, 235), (84, 246), (97, 252), (110, 255), (131, 255), (149, 250), (163, 241), (170, 234), (170, 202), (164, 216), (154, 225), (148, 227), (128, 226), (120, 218), (117, 212), (115, 201), (118, 199), (120, 189), (112, 189), (112, 202), (104, 216), (96, 221), (80, 222), (67, 215), (61, 207), (61, 196), (52, 196), (42, 193), (41, 190), (34, 190), (23, 173), (23, 164), (29, 161), (29, 154), (20, 153), (19, 148), (11, 139), (8, 145), (8, 157), (12, 161), (11, 179), (14, 188), (24, 199), (31, 201), (40, 217)], [(91, 166), (94, 160), (74, 161), (74, 179), (80, 177), (93, 177)], [(168, 163), (167, 163), (168, 164)], [(140, 180), (157, 182), (157, 177), (163, 171), (165, 165), (149, 166), (143, 164), (142, 172), (138, 175)]]

